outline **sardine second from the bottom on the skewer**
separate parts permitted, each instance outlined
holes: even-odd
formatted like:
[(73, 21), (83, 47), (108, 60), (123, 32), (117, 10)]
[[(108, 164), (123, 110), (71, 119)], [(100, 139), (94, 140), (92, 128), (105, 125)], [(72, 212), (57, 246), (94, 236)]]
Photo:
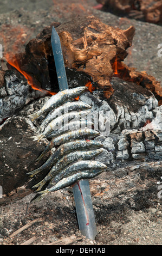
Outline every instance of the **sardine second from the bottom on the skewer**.
[(69, 175), (75, 174), (76, 172), (84, 171), (85, 169), (88, 170), (89, 172), (94, 169), (106, 170), (107, 166), (98, 161), (89, 161), (89, 160), (79, 161), (79, 162), (73, 163), (69, 167), (63, 169), (59, 174), (57, 174), (53, 179), (53, 184), (56, 184), (61, 179), (66, 178)]

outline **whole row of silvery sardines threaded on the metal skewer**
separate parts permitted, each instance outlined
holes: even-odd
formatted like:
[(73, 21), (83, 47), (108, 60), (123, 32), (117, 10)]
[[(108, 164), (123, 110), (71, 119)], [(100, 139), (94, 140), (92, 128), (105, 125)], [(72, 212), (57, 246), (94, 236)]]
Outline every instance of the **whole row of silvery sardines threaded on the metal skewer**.
[[(33, 121), (45, 114), (34, 140), (48, 138), (49, 143), (37, 158), (40, 161), (49, 150), (55, 151), (39, 168), (27, 173), (31, 177), (44, 169), (49, 169), (46, 177), (34, 185), (40, 200), (49, 192), (71, 186), (81, 179), (91, 179), (107, 169), (101, 162), (93, 161), (102, 153), (102, 144), (93, 138), (99, 135), (93, 129), (93, 123), (87, 120), (90, 108), (87, 103), (75, 100), (86, 87), (63, 90), (53, 96), (34, 114), (29, 115)], [(47, 186), (46, 186), (47, 184)], [(42, 191), (42, 187), (46, 190)]]

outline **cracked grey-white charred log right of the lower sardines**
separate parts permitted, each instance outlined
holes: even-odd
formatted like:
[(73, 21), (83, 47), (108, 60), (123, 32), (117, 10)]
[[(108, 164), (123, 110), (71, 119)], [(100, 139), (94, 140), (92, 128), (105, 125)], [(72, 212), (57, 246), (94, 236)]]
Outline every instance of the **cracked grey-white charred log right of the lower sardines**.
[(118, 173), (118, 168), (127, 167), (128, 169), (130, 166), (138, 164), (148, 167), (149, 164), (153, 165), (152, 162), (162, 161), (161, 130), (124, 130), (120, 136), (110, 134), (107, 138), (98, 137), (96, 139), (102, 141), (103, 148), (105, 148), (105, 151), (96, 157), (96, 160), (101, 161), (102, 159), (107, 164), (109, 171), (116, 170)]

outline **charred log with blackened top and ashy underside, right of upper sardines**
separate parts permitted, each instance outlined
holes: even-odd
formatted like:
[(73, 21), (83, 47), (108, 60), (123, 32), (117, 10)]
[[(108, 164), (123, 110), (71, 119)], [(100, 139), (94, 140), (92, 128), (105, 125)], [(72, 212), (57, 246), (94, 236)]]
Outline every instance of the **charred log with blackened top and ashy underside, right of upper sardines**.
[[(93, 92), (93, 94), (86, 92), (80, 96), (83, 102), (92, 106), (93, 117), (103, 112), (105, 125), (109, 122), (111, 132), (120, 133), (124, 129), (140, 129), (148, 120), (151, 123), (155, 119), (158, 101), (146, 88), (117, 77), (112, 79), (112, 87), (114, 94), (108, 100), (102, 92)], [(154, 124), (154, 127), (161, 126)]]

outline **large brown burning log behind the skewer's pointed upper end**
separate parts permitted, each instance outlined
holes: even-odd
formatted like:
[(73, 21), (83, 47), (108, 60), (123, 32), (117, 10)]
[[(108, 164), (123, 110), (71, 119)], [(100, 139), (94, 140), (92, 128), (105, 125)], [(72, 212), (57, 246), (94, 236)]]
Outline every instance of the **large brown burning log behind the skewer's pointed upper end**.
[[(112, 64), (115, 56), (118, 56), (120, 61), (127, 56), (126, 49), (132, 45), (134, 27), (122, 31), (105, 25), (94, 16), (79, 17), (60, 26), (53, 23), (52, 26), (56, 27), (60, 36), (66, 68), (77, 71), (77, 76), (85, 74), (86, 80), (91, 78), (96, 88), (105, 90), (107, 97), (111, 96)], [(44, 29), (36, 39), (31, 40), (27, 44), (25, 53), (17, 54), (16, 60), (10, 60), (9, 63), (13, 66), (17, 65), (18, 69), (28, 74), (28, 81), (31, 84), (58, 92), (50, 44), (49, 29), (52, 26)], [(68, 73), (67, 77), (69, 77)]]

